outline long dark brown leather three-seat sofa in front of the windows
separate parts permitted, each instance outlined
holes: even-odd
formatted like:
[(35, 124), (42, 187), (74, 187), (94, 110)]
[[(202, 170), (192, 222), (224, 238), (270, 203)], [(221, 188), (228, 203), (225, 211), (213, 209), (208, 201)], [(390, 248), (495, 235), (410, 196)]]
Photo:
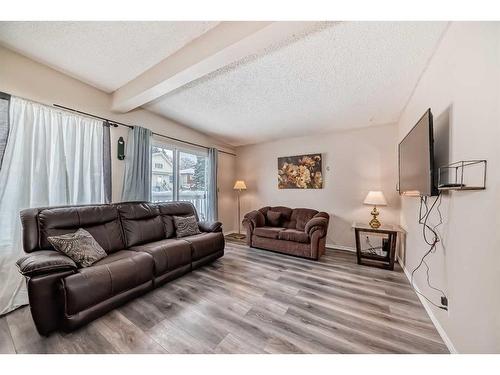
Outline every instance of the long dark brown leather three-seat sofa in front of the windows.
[[(173, 216), (195, 215), (188, 202), (127, 202), (32, 208), (21, 212), (31, 314), (40, 334), (70, 331), (115, 307), (224, 255), (220, 222), (177, 239)], [(84, 228), (108, 254), (78, 268), (53, 249), (48, 236)]]

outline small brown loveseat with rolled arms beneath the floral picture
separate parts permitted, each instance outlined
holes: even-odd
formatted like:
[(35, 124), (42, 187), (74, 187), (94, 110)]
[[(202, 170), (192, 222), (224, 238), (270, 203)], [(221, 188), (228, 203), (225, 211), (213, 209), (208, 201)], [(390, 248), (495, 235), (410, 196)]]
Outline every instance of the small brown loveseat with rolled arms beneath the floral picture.
[(318, 260), (325, 253), (330, 215), (308, 208), (263, 207), (243, 219), (251, 247)]

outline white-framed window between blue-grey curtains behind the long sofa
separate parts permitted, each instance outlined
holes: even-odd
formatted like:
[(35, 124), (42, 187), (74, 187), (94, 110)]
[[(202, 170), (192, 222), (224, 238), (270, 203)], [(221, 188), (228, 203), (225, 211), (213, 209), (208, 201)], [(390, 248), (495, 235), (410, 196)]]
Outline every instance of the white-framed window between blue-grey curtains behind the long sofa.
[(207, 160), (205, 151), (155, 143), (152, 148), (153, 202), (189, 201), (196, 207), (200, 219), (205, 220)]

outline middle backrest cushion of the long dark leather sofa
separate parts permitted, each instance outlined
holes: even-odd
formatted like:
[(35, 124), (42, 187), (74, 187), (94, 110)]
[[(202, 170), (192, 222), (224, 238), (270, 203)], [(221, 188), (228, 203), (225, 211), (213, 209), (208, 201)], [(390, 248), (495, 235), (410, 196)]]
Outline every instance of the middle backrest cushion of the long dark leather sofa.
[(159, 241), (165, 230), (158, 207), (151, 203), (130, 202), (118, 205), (127, 247)]

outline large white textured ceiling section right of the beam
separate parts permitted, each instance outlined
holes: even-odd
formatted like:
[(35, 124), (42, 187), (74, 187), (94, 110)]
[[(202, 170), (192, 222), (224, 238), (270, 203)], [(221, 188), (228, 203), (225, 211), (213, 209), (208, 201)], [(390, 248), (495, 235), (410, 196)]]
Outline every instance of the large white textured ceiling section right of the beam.
[(445, 29), (444, 22), (322, 23), (146, 108), (232, 145), (393, 123)]

